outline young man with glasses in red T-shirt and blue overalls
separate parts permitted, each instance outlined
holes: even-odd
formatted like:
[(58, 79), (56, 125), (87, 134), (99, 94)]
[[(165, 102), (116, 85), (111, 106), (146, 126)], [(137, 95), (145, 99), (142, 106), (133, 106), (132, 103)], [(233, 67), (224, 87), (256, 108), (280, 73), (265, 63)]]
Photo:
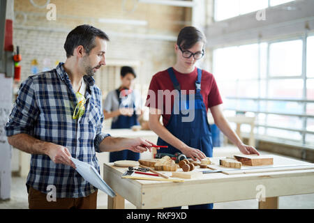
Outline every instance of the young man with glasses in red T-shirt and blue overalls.
[[(212, 157), (213, 145), (211, 130), (207, 120), (210, 109), (218, 128), (234, 143), (244, 154), (259, 154), (252, 146), (245, 145), (237, 134), (230, 128), (221, 104), (220, 93), (214, 75), (195, 66), (196, 61), (204, 56), (206, 38), (204, 34), (193, 26), (186, 26), (179, 32), (174, 52), (177, 63), (173, 67), (154, 75), (149, 86), (146, 106), (149, 107), (149, 127), (158, 134), (157, 153), (183, 153), (193, 160), (202, 160)], [(178, 92), (177, 96), (175, 92)], [(151, 93), (150, 93), (151, 91)], [(186, 100), (182, 97), (186, 91)], [(174, 97), (167, 98), (160, 92), (172, 92)], [(192, 98), (193, 96), (193, 98)], [(188, 98), (188, 99), (187, 99)], [(194, 99), (193, 107), (189, 100)], [(163, 103), (160, 103), (163, 102)], [(161, 105), (160, 105), (161, 104)], [(168, 106), (170, 105), (170, 106)], [(174, 105), (179, 112), (174, 112)], [(193, 114), (193, 118), (184, 121), (186, 111)], [(171, 110), (167, 111), (167, 107)], [(163, 116), (163, 124), (159, 122)], [(181, 207), (177, 207), (181, 208)], [(213, 208), (213, 203), (189, 206), (189, 208)]]

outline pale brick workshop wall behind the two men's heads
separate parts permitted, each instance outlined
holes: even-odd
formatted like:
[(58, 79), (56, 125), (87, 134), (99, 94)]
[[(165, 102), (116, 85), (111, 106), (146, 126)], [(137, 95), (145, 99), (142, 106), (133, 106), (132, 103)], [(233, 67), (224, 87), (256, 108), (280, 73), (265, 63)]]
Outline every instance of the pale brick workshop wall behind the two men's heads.
[[(43, 6), (46, 1), (33, 2)], [(147, 89), (152, 75), (175, 61), (173, 37), (186, 24), (185, 8), (122, 0), (54, 0), (50, 3), (56, 6), (55, 21), (47, 20), (49, 9), (37, 8), (30, 1), (15, 0), (13, 43), (20, 46), (22, 54), (21, 82), (33, 73), (50, 70), (59, 61), (65, 61), (64, 41), (68, 32), (79, 24), (91, 24), (110, 36), (108, 61), (136, 61), (140, 64), (135, 69), (137, 86)], [(100, 18), (140, 20), (147, 24), (102, 23)], [(106, 76), (103, 72), (96, 75)], [(105, 78), (110, 82), (109, 78), (113, 77)]]

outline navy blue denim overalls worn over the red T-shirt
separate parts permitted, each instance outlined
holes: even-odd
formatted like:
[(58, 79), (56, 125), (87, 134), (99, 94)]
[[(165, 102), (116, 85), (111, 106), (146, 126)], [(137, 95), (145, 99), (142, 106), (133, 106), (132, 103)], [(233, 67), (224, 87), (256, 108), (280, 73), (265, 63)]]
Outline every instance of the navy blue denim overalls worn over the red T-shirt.
[[(194, 99), (194, 109), (190, 108), (189, 100), (190, 97), (186, 97), (186, 101), (181, 98), (181, 88), (179, 82), (177, 81), (176, 76), (174, 75), (174, 70), (169, 68), (168, 73), (174, 85), (174, 89), (179, 91), (179, 100), (174, 99), (174, 107), (172, 109), (172, 114), (170, 116), (170, 121), (165, 128), (169, 130), (175, 137), (183, 141), (186, 145), (192, 148), (198, 148), (202, 151), (207, 157), (212, 157), (213, 155), (213, 144), (211, 139), (211, 130), (209, 123), (207, 121), (207, 111), (204, 105), (201, 90), (201, 79), (202, 79), (202, 70), (197, 68), (197, 81), (195, 82), (196, 93)], [(187, 95), (188, 96), (188, 95)], [(179, 106), (179, 112), (174, 112), (175, 107)], [(187, 114), (184, 109), (188, 112), (194, 112), (193, 121), (183, 121), (183, 118), (187, 117)], [(179, 114), (178, 114), (179, 113)], [(157, 153), (181, 153), (177, 148), (174, 148), (167, 142), (163, 141), (158, 137), (157, 145), (168, 146), (168, 148), (160, 148)], [(207, 203), (202, 205), (188, 206), (190, 209), (212, 209), (213, 203)], [(181, 208), (181, 207), (176, 207)]]

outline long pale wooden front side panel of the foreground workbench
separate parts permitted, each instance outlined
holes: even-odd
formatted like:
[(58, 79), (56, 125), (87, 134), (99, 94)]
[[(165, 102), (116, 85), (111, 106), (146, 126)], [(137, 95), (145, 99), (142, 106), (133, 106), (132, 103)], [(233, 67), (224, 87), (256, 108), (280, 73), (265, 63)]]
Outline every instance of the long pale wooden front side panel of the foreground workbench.
[[(211, 174), (204, 174), (209, 176)], [(212, 174), (211, 176), (218, 176)], [(223, 174), (222, 174), (223, 175)], [(291, 171), (286, 174), (250, 174), (239, 178), (227, 177), (227, 181), (207, 182), (205, 180), (191, 179), (180, 184), (143, 185), (142, 208), (166, 208), (174, 206), (195, 205), (201, 203), (216, 203), (237, 201), (243, 199), (256, 199), (257, 186), (264, 185), (267, 197), (279, 197), (294, 194), (307, 194), (314, 192), (313, 171), (297, 174)], [(249, 183), (248, 183), (249, 182)], [(293, 187), (291, 186), (293, 185)], [(232, 188), (232, 190), (230, 190)], [(235, 192), (236, 191), (236, 192)], [(173, 196), (184, 194), (184, 196)]]

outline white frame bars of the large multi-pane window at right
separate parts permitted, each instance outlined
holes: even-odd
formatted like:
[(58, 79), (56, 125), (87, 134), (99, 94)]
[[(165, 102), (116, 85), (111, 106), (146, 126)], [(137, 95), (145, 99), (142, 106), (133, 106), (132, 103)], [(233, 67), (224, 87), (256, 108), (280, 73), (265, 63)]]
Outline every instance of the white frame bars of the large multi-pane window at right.
[[(304, 32), (303, 35), (298, 35), (298, 36), (292, 36), (290, 38), (281, 38), (281, 39), (277, 39), (277, 40), (267, 40), (267, 41), (263, 41), (260, 42), (258, 41), (257, 43), (259, 44), (258, 46), (258, 57), (257, 57), (257, 63), (258, 63), (258, 85), (259, 85), (259, 90), (258, 90), (258, 97), (255, 98), (251, 98), (251, 97), (230, 97), (227, 96), (225, 97), (227, 100), (236, 100), (235, 105), (237, 105), (237, 102), (239, 100), (254, 100), (258, 103), (257, 109), (255, 111), (248, 111), (248, 110), (241, 110), (241, 109), (237, 109), (237, 108), (231, 108), (231, 107), (226, 107), (225, 111), (233, 111), (236, 113), (239, 112), (252, 112), (255, 114), (255, 116), (259, 116), (259, 114), (264, 114), (264, 120), (262, 121), (262, 123), (256, 123), (255, 124), (255, 130), (256, 130), (256, 134), (261, 136), (261, 137), (269, 137), (269, 139), (274, 139), (274, 138), (278, 138), (278, 137), (270, 137), (267, 135), (267, 130), (268, 129), (277, 129), (277, 130), (286, 130), (286, 131), (291, 131), (291, 132), (299, 132), (299, 134), (301, 134), (301, 140), (297, 141), (297, 144), (300, 144), (301, 146), (310, 146), (310, 142), (306, 142), (306, 137), (308, 134), (314, 134), (314, 131), (308, 130), (308, 126), (307, 126), (307, 119), (308, 118), (314, 118), (314, 115), (312, 114), (307, 114), (306, 113), (306, 105), (307, 103), (314, 103), (314, 100), (307, 100), (307, 89), (306, 89), (306, 83), (308, 79), (314, 79), (314, 77), (307, 77), (306, 75), (306, 51), (307, 51), (307, 39), (311, 36), (314, 36), (314, 32), (313, 33), (307, 33)], [(278, 77), (272, 77), (269, 75), (269, 46), (272, 43), (280, 43), (280, 42), (287, 42), (290, 40), (301, 40), (302, 41), (302, 64), (301, 64), (301, 75), (299, 76), (278, 76)], [(267, 43), (267, 61), (266, 61), (266, 66), (267, 66), (267, 70), (266, 70), (266, 77), (265, 78), (261, 78), (260, 76), (260, 72), (261, 72), (261, 67), (260, 67), (260, 63), (261, 63), (261, 54), (260, 54), (260, 46), (262, 43)], [(248, 44), (252, 44), (252, 43), (248, 43)], [(247, 43), (242, 43), (241, 45), (248, 45)], [(230, 45), (230, 46), (225, 46), (225, 47), (240, 47), (241, 45)], [(216, 47), (213, 49), (220, 49), (223, 47)], [(213, 66), (213, 70), (215, 70), (214, 66), (214, 62), (216, 61), (216, 59), (214, 59), (215, 54), (213, 53), (213, 58), (212, 58), (212, 66)], [(214, 74), (215, 75), (215, 74)], [(269, 88), (269, 80), (271, 79), (301, 79), (303, 80), (303, 87), (302, 87), (302, 97), (300, 99), (292, 99), (292, 98), (269, 98), (268, 95), (268, 88)], [(241, 81), (247, 81), (247, 80), (256, 80), (256, 79), (237, 79), (236, 82), (241, 82)], [(264, 89), (266, 91), (266, 95), (265, 97), (261, 97), (261, 83), (262, 81), (266, 81), (266, 86)], [(217, 82), (220, 82), (220, 84), (223, 84), (223, 82), (227, 82), (227, 80), (217, 80)], [(237, 85), (238, 88), (238, 85)], [(237, 89), (237, 91), (239, 91), (239, 89)], [(287, 112), (269, 112), (269, 111), (262, 111), (260, 109), (260, 105), (261, 102), (297, 102), (301, 104), (301, 107), (303, 107), (302, 112), (300, 114), (291, 114), (291, 113), (287, 113)], [(294, 116), (294, 117), (299, 117), (301, 118), (301, 129), (297, 129), (297, 128), (283, 128), (283, 127), (279, 127), (279, 126), (274, 126), (274, 125), (267, 125), (267, 116), (269, 114), (276, 114), (276, 115), (281, 115), (281, 116)], [(260, 134), (260, 128), (264, 128), (264, 134)], [(279, 139), (284, 139), (285, 141), (290, 141), (291, 144), (295, 144), (296, 141), (294, 141), (293, 139), (285, 139), (282, 137), (279, 137)], [(311, 147), (311, 146), (310, 146)], [(314, 148), (314, 147), (313, 147)]]

